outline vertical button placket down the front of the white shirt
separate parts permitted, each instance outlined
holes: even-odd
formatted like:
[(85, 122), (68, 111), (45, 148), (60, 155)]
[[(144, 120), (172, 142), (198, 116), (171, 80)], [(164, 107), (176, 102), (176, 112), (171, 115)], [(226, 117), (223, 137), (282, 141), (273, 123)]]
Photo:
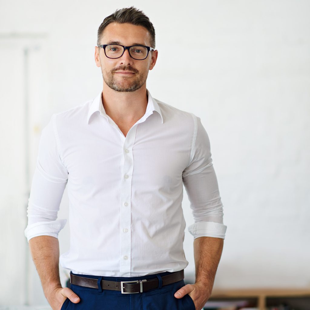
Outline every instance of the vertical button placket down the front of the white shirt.
[(131, 276), (131, 184), (133, 173), (132, 147), (135, 142), (136, 127), (127, 133), (123, 144), (123, 167), (120, 201), (120, 276)]

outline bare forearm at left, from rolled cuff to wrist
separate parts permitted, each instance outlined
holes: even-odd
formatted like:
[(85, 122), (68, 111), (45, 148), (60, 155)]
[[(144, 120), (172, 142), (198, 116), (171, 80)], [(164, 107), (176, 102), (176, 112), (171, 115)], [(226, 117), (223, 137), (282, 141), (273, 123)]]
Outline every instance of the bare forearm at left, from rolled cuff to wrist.
[(51, 236), (33, 237), (29, 240), (29, 248), (48, 300), (51, 292), (61, 287), (58, 239)]

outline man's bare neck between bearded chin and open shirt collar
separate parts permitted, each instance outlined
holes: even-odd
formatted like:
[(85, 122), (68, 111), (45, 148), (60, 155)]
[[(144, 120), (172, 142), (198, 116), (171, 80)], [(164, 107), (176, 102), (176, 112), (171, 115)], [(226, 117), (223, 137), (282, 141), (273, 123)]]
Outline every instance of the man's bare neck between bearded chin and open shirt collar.
[(120, 92), (114, 91), (104, 83), (102, 102), (105, 113), (115, 123), (135, 123), (146, 111), (148, 104), (146, 85), (137, 91)]

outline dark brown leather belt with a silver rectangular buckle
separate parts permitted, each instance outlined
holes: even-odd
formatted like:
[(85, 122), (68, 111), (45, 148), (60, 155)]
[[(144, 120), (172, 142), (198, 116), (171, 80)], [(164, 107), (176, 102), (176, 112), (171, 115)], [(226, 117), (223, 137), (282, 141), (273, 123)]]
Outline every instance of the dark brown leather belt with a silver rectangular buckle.
[[(173, 272), (166, 276), (162, 276), (162, 286), (175, 283), (184, 279), (184, 270)], [(91, 279), (86, 277), (75, 276), (70, 273), (70, 283), (79, 286), (86, 286), (98, 289), (98, 279)], [(117, 290), (122, 294), (142, 293), (148, 290), (156, 289), (158, 287), (158, 278), (150, 280), (136, 280), (136, 281), (106, 281), (101, 280), (101, 288), (103, 290)]]

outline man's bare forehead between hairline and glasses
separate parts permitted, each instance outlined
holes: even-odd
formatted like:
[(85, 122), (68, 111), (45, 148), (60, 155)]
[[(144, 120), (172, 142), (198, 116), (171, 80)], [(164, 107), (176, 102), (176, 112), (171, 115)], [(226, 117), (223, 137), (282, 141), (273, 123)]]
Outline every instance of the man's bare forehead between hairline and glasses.
[(103, 30), (101, 44), (110, 42), (120, 42), (126, 46), (137, 43), (150, 46), (151, 36), (148, 30), (142, 26), (111, 23)]

